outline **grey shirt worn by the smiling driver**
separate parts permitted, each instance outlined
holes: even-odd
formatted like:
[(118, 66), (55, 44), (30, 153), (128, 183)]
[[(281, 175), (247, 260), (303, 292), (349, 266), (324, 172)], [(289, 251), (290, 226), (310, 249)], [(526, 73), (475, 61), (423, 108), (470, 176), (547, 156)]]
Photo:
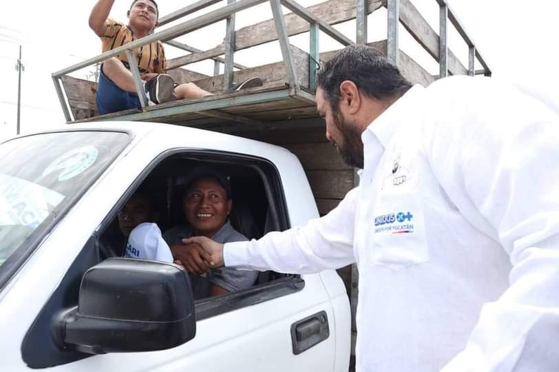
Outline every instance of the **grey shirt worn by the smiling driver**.
[[(192, 230), (188, 225), (171, 227), (165, 231), (163, 239), (169, 247), (174, 244), (182, 244), (182, 239), (189, 238)], [(233, 229), (229, 220), (211, 237), (216, 242), (242, 242), (249, 240), (239, 231)], [(218, 285), (227, 291), (238, 291), (239, 289), (252, 287), (258, 276), (257, 271), (236, 270), (231, 267), (219, 267), (211, 269), (209, 273), (196, 275), (190, 274), (192, 293), (195, 300), (209, 297), (210, 284)]]

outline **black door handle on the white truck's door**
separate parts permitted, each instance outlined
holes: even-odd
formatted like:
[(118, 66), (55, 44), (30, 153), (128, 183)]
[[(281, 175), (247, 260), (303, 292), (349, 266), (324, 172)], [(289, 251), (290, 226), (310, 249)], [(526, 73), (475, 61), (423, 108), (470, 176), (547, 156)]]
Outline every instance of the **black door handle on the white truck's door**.
[(291, 324), (293, 354), (297, 355), (322, 342), (330, 335), (326, 311), (308, 316)]

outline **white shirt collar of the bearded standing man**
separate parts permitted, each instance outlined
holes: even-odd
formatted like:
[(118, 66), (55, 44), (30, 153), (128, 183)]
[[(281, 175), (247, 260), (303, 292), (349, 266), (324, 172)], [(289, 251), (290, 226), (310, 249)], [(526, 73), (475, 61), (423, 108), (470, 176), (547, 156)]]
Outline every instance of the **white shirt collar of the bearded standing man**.
[(425, 87), (416, 84), (405, 92), (396, 102), (392, 103), (382, 114), (372, 121), (365, 132), (361, 134), (363, 144), (371, 143), (377, 137), (381, 145), (386, 149), (394, 133), (403, 122), (402, 116), (406, 112), (406, 107), (415, 104), (415, 100), (421, 96)]

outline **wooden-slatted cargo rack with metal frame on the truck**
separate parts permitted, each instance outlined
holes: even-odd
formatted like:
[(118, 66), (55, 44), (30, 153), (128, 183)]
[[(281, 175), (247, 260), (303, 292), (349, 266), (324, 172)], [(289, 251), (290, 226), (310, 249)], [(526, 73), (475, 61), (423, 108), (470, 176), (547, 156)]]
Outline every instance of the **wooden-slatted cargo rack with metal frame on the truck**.
[[(234, 30), (235, 12), (264, 1), (270, 1), (274, 15), (273, 19)], [(279, 124), (317, 117), (314, 96), (314, 76), (319, 67), (317, 61), (324, 63), (334, 53), (319, 54), (319, 31), (333, 37), (342, 45), (349, 45), (353, 41), (333, 28), (332, 25), (356, 19), (357, 43), (366, 43), (367, 16), (382, 7), (388, 10), (388, 39), (368, 45), (372, 45), (385, 53), (412, 83), (428, 85), (437, 77), (446, 76), (446, 74), (490, 75), (491, 71), (487, 64), (481, 58), (478, 50), (475, 49), (474, 43), (454, 17), (452, 11), (448, 9), (445, 1), (437, 1), (441, 6), (441, 34), (445, 38), (445, 20), (450, 19), (470, 48), (468, 68), (465, 68), (452, 51), (446, 48), (445, 39), (439, 37), (409, 0), (328, 0), (310, 6), (308, 9), (303, 8), (294, 0), (241, 0), (238, 2), (229, 0), (229, 5), (223, 8), (202, 14), (167, 30), (156, 32), (134, 41), (134, 43), (123, 45), (61, 72), (56, 72), (53, 74), (53, 79), (68, 123), (127, 120), (189, 125), (222, 132), (244, 132), (259, 128), (270, 129), (277, 127), (277, 125), (271, 125), (273, 122)], [(191, 6), (173, 12), (167, 17), (162, 17), (160, 25), (198, 12), (217, 2), (216, 0), (200, 0)], [(284, 15), (281, 11), (282, 5), (293, 12)], [(202, 51), (172, 40), (222, 19), (228, 20), (226, 38), (224, 43), (215, 48)], [(399, 19), (399, 22), (412, 34), (414, 39), (436, 61), (439, 61), (441, 65), (439, 76), (432, 76), (410, 56), (397, 48), (398, 22), (394, 19)], [(304, 32), (310, 34), (310, 53), (290, 45), (288, 41), (288, 37)], [(154, 40), (162, 40), (176, 48), (191, 52), (186, 56), (167, 61), (166, 68), (176, 83), (193, 82), (215, 95), (203, 99), (186, 99), (155, 106), (144, 104), (141, 110), (126, 110), (98, 115), (95, 110), (96, 83), (76, 79), (68, 74)], [(233, 61), (235, 51), (277, 40), (279, 40), (284, 57), (281, 62), (247, 68)], [(224, 58), (221, 57), (222, 55), (224, 55)], [(440, 56), (443, 56), (443, 58), (440, 58)], [(474, 70), (475, 57), (483, 65), (483, 70)], [(224, 63), (224, 74), (207, 76), (182, 68), (184, 65), (206, 59), (213, 59), (217, 67), (216, 72), (219, 71), (219, 64)], [(131, 65), (134, 66), (134, 63), (132, 62)], [(233, 68), (238, 70), (235, 71)], [(134, 69), (132, 70), (134, 72)], [(137, 69), (135, 75), (138, 75), (136, 79), (139, 80)], [(233, 90), (236, 83), (251, 76), (261, 77), (264, 85), (239, 92)], [(63, 85), (63, 90), (60, 83)], [(140, 92), (139, 95), (142, 99), (145, 99), (143, 92)]]

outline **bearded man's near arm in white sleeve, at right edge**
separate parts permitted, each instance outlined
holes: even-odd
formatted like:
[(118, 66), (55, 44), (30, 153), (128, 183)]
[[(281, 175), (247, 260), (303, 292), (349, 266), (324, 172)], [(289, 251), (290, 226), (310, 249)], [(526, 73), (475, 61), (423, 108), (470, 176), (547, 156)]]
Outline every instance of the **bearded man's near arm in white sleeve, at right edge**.
[[(500, 242), (509, 288), (481, 309), (465, 349), (443, 371), (556, 371), (559, 354), (559, 117), (491, 83), (443, 109), (430, 163), (472, 225)], [(463, 123), (457, 123), (460, 118)]]

